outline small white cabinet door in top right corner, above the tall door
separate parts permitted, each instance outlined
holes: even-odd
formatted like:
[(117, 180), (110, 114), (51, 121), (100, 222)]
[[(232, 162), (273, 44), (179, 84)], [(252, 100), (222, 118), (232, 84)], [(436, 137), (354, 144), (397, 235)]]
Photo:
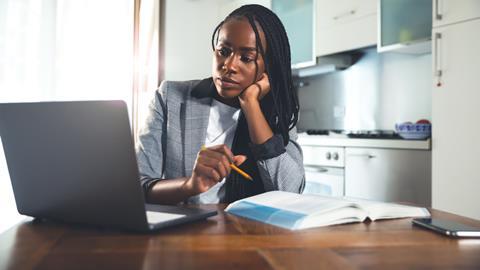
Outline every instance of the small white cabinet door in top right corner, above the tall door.
[(480, 18), (478, 0), (433, 0), (433, 27)]

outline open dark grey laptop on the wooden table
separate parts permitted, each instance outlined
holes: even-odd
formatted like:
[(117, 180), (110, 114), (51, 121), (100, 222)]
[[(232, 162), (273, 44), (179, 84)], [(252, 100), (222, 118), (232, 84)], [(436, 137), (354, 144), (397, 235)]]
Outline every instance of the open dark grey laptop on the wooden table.
[(145, 204), (123, 101), (0, 104), (0, 138), (20, 214), (142, 232), (217, 214)]

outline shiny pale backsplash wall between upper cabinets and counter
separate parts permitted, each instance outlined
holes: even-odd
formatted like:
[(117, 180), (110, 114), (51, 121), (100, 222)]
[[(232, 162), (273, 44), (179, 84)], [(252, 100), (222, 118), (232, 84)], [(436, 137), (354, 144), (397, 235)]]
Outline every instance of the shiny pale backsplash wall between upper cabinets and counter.
[[(364, 50), (351, 67), (305, 78), (299, 89), (298, 128), (395, 129), (396, 123), (431, 120), (430, 54), (378, 54)], [(340, 116), (335, 110), (344, 111)]]

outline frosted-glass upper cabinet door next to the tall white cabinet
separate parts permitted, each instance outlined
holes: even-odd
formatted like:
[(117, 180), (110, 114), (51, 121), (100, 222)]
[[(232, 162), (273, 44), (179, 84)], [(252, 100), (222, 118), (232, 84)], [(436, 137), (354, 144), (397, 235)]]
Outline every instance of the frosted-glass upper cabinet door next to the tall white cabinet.
[(430, 52), (432, 0), (379, 0), (378, 52)]

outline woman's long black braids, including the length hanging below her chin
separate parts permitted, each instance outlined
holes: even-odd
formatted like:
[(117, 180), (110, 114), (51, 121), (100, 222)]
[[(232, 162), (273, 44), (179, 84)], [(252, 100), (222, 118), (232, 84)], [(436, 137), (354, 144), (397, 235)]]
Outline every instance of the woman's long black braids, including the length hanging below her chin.
[[(273, 132), (281, 134), (284, 144), (287, 145), (290, 139), (288, 132), (296, 125), (298, 120), (299, 104), (292, 81), (290, 45), (280, 19), (271, 10), (261, 5), (242, 6), (230, 13), (217, 25), (212, 34), (212, 49), (215, 50), (222, 25), (228, 20), (242, 18), (248, 20), (255, 32), (256, 57), (258, 59), (258, 53), (263, 57), (265, 72), (268, 74), (270, 81), (270, 92), (260, 101), (262, 112)], [(267, 48), (263, 48), (260, 42), (257, 25), (265, 35)], [(256, 61), (255, 65), (258, 70)], [(236, 155), (243, 154), (248, 157), (240, 168), (248, 171), (254, 181), (246, 181), (236, 173), (230, 174), (226, 181), (225, 202), (232, 202), (265, 191), (256, 161), (248, 145), (249, 138), (248, 125), (244, 115), (241, 114), (232, 150), (236, 151)]]

